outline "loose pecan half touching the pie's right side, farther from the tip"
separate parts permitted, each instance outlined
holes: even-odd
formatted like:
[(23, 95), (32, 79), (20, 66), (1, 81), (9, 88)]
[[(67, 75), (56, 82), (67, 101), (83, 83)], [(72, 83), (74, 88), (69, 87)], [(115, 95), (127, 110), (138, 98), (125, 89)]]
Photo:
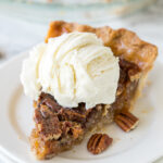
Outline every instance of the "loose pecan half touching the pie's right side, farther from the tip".
[(122, 111), (114, 117), (114, 122), (120, 126), (124, 131), (129, 131), (134, 129), (139, 120), (127, 111)]

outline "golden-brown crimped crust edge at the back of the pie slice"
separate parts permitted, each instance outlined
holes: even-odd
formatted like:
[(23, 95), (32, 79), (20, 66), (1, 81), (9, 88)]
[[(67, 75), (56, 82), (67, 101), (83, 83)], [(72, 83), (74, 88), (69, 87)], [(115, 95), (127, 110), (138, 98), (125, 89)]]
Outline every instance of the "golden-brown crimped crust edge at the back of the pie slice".
[(148, 72), (152, 68), (153, 62), (158, 55), (158, 48), (154, 45), (141, 40), (134, 32), (128, 29), (112, 29), (109, 26), (95, 28), (88, 25), (63, 21), (50, 23), (46, 42), (48, 42), (49, 38), (72, 32), (96, 34), (102, 39), (104, 46), (112, 49), (114, 55), (135, 63), (142, 72)]

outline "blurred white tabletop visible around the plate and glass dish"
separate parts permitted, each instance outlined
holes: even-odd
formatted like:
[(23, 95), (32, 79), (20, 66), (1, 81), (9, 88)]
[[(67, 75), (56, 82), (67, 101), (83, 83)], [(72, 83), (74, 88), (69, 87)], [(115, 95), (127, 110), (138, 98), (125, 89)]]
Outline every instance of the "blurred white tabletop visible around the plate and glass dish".
[[(116, 17), (112, 21), (92, 24), (95, 26), (110, 25), (114, 28), (126, 27), (136, 32), (142, 39), (153, 42), (163, 52), (163, 0), (156, 0), (152, 5), (127, 16)], [(10, 12), (11, 14), (11, 12)], [(24, 20), (21, 16), (0, 14), (0, 64), (20, 52), (26, 51), (38, 42), (43, 41), (48, 24)], [(0, 163), (3, 160), (0, 154)], [(163, 159), (156, 161), (163, 163)]]

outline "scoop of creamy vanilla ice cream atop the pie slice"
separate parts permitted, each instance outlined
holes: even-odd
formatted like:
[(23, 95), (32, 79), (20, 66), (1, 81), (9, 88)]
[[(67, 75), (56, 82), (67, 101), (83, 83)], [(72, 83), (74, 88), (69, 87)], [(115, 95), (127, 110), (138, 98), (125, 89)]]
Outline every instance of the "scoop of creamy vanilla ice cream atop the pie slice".
[(86, 109), (111, 104), (120, 77), (118, 59), (95, 34), (71, 33), (35, 47), (23, 63), (25, 93), (37, 100), (40, 92), (65, 108), (80, 102)]

